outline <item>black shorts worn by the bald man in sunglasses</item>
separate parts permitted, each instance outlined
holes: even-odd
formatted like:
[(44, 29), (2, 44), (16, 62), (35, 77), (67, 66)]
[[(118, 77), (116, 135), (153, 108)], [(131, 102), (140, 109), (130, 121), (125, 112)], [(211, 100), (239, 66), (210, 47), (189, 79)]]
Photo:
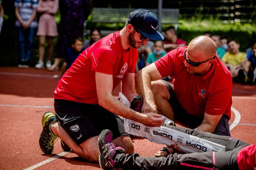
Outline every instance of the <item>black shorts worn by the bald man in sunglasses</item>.
[[(196, 116), (187, 114), (186, 110), (184, 110), (183, 107), (181, 107), (181, 104), (178, 102), (173, 85), (167, 81), (161, 81), (164, 82), (170, 94), (170, 99), (168, 100), (168, 102), (171, 105), (174, 113), (174, 122), (181, 122), (183, 125), (187, 125), (187, 128), (190, 129), (194, 129), (200, 126), (203, 122), (203, 118), (198, 118)], [(223, 114), (213, 133), (218, 135), (230, 136), (228, 120), (229, 117)]]

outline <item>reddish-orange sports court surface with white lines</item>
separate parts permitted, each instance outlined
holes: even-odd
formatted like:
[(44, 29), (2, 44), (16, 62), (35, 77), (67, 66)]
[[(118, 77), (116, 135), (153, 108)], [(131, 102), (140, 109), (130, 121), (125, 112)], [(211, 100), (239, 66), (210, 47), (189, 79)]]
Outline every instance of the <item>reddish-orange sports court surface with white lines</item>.
[[(53, 91), (58, 79), (46, 69), (0, 67), (0, 169), (88, 169), (98, 170), (98, 163), (88, 163), (74, 153), (63, 152), (60, 140), (53, 154), (41, 151), (38, 138), (42, 115), (53, 110)], [(216, 82), (218, 83), (218, 82)], [(114, 90), (117, 96), (120, 86)], [(250, 144), (256, 143), (256, 85), (233, 84), (231, 135)], [(223, 96), (225, 97), (225, 96)], [(164, 145), (133, 137), (135, 151), (153, 156)], [(97, 147), (97, 146), (96, 146)]]

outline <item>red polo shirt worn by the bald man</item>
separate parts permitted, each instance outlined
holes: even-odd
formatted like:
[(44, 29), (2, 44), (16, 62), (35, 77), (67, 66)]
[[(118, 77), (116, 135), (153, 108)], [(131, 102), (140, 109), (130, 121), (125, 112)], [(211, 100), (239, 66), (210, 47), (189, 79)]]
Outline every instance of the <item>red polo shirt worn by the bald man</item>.
[(188, 114), (203, 118), (209, 115), (227, 114), (231, 117), (232, 78), (227, 67), (215, 57), (208, 72), (193, 75), (185, 67), (183, 52), (178, 47), (155, 62), (162, 77), (172, 76), (175, 94)]

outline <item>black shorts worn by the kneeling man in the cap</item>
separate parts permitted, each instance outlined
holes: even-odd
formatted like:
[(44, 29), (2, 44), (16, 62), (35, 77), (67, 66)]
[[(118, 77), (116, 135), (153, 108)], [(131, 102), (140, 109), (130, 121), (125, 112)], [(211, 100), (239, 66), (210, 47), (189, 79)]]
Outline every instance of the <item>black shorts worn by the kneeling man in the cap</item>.
[(54, 111), (59, 123), (78, 145), (99, 136), (104, 129), (112, 131), (113, 139), (128, 135), (123, 120), (98, 104), (54, 99)]

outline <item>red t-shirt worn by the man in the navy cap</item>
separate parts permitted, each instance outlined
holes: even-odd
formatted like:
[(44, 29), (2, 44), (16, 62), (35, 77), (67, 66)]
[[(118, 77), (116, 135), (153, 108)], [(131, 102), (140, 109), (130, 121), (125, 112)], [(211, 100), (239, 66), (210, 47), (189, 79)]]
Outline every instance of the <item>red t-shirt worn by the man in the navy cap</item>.
[[(116, 31), (84, 50), (60, 79), (55, 99), (99, 104), (95, 72), (113, 75), (113, 90), (127, 73), (134, 73), (138, 50), (122, 47), (120, 31)], [(104, 80), (102, 80), (104, 81)]]

